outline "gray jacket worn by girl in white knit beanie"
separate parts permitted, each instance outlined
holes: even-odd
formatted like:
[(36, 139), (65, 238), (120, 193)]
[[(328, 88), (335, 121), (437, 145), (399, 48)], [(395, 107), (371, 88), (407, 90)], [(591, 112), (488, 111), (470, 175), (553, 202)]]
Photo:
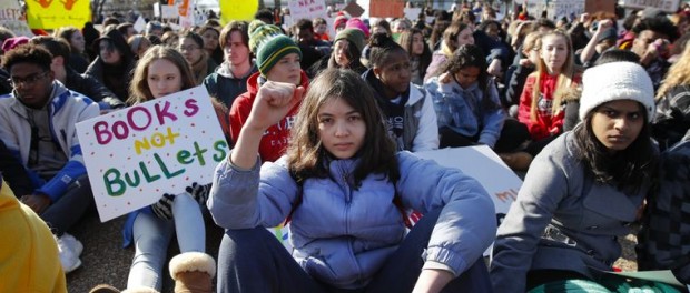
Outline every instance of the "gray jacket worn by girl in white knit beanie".
[(565, 270), (593, 276), (611, 271), (621, 255), (618, 236), (649, 190), (635, 194), (600, 184), (575, 159), (574, 134), (551, 142), (532, 162), (518, 199), (499, 228), (490, 267), (495, 292), (525, 292), (532, 270)]

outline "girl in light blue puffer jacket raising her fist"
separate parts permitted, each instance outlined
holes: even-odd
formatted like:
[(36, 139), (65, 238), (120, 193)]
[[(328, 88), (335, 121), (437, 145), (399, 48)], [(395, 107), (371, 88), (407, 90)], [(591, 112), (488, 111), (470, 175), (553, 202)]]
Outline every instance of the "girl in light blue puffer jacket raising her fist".
[[(216, 169), (218, 292), (490, 292), (482, 252), (495, 216), (483, 188), (396, 153), (353, 71), (327, 69), (310, 87), (302, 101), (304, 87), (266, 82)], [(262, 164), (262, 137), (300, 102), (287, 154)], [(406, 209), (425, 214), (410, 233)], [(264, 229), (286, 218), (292, 255)]]

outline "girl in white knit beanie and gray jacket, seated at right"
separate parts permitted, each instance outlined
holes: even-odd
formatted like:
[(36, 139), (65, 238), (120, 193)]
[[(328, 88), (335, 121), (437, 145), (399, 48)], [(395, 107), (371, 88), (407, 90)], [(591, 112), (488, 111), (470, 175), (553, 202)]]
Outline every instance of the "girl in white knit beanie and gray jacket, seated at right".
[(618, 292), (628, 284), (603, 271), (621, 256), (617, 238), (639, 220), (655, 173), (654, 89), (632, 62), (588, 69), (583, 85), (582, 122), (536, 155), (499, 228), (494, 292)]

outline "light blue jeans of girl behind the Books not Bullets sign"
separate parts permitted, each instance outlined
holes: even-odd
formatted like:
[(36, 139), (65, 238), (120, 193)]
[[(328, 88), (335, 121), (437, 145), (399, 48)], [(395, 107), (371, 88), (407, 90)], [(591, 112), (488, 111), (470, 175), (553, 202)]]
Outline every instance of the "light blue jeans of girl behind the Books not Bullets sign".
[(181, 193), (175, 196), (172, 214), (172, 221), (145, 212), (135, 219), (135, 257), (129, 267), (128, 289), (148, 286), (160, 291), (174, 232), (180, 252), (206, 252), (206, 230), (199, 203), (188, 193)]

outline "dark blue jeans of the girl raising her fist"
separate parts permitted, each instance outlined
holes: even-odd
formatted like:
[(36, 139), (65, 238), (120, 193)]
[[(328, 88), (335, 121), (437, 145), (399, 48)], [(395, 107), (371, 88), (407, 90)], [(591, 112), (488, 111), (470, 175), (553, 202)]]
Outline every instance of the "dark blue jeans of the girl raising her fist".
[[(412, 292), (440, 211), (425, 214), (373, 281), (359, 290), (339, 290), (312, 279), (264, 228), (227, 230), (218, 252), (217, 292)], [(492, 292), (483, 259), (442, 292)]]

